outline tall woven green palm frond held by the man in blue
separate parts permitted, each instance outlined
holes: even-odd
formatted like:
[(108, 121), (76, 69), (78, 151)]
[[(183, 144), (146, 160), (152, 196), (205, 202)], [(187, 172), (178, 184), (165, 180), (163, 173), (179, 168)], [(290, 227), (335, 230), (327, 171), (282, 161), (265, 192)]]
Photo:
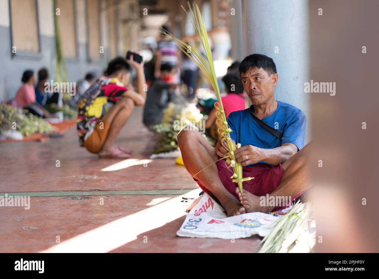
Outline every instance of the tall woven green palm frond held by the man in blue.
[(240, 143), (235, 144), (232, 139), (230, 138), (230, 132), (232, 132), (232, 129), (229, 128), (228, 123), (226, 121), (226, 115), (224, 111), (224, 107), (222, 106), (221, 101), (221, 95), (220, 90), (217, 83), (217, 77), (215, 73), (215, 66), (213, 64), (213, 58), (212, 58), (212, 52), (208, 40), (207, 30), (205, 28), (204, 19), (200, 13), (199, 6), (194, 2), (193, 7), (191, 7), (190, 3), (187, 2), (188, 8), (189, 8), (189, 14), (187, 13), (186, 9), (182, 6), (185, 13), (189, 17), (189, 20), (191, 20), (191, 23), (199, 36), (200, 42), (202, 44), (202, 47), (205, 50), (206, 58), (203, 57), (200, 52), (198, 52), (196, 49), (192, 48), (188, 44), (184, 43), (183, 41), (180, 41), (180, 39), (176, 38), (171, 33), (167, 32), (163, 28), (161, 29), (161, 33), (163, 35), (167, 36), (169, 39), (171, 39), (177, 47), (179, 47), (180, 50), (184, 54), (186, 54), (189, 58), (191, 58), (197, 66), (199, 66), (200, 70), (205, 74), (205, 76), (210, 81), (211, 85), (215, 89), (217, 98), (218, 98), (218, 106), (215, 104), (215, 107), (217, 109), (216, 112), (216, 124), (218, 126), (219, 134), (221, 134), (222, 138), (227, 142), (228, 147), (226, 148), (229, 152), (226, 155), (227, 156), (227, 164), (229, 164), (228, 169), (233, 173), (232, 179), (233, 182), (236, 182), (238, 184), (238, 187), (240, 188), (240, 191), (242, 192), (242, 183), (243, 181), (251, 180), (254, 177), (242, 177), (242, 165), (239, 162), (236, 162), (234, 151), (237, 148), (241, 147)]

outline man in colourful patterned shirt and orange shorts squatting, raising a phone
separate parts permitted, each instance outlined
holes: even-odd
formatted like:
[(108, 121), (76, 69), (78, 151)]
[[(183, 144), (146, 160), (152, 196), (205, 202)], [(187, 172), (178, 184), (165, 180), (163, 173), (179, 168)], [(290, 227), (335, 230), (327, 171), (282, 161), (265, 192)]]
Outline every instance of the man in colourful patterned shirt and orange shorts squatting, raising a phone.
[(80, 145), (100, 158), (130, 158), (130, 150), (113, 145), (134, 107), (143, 106), (146, 100), (143, 63), (133, 57), (130, 63), (136, 68), (138, 92), (125, 87), (131, 68), (124, 58), (116, 57), (106, 69), (108, 76), (96, 80), (78, 102)]

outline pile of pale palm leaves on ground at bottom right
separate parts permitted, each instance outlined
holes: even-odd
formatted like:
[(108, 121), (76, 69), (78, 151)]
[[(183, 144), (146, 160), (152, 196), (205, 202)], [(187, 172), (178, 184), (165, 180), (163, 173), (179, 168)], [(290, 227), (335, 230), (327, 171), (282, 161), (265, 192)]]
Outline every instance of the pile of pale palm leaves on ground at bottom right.
[(312, 251), (309, 232), (311, 205), (297, 202), (287, 214), (272, 224), (271, 232), (263, 238), (259, 253), (288, 253)]

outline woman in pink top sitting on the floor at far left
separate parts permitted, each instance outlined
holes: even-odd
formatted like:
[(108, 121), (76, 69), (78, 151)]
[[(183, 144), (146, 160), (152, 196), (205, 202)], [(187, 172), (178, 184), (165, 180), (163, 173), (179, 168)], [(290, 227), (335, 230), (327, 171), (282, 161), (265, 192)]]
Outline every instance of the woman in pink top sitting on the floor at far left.
[(44, 118), (49, 118), (50, 113), (36, 102), (36, 93), (33, 84), (36, 82), (36, 76), (32, 70), (23, 73), (21, 81), (23, 85), (17, 90), (17, 106), (27, 109), (30, 113)]

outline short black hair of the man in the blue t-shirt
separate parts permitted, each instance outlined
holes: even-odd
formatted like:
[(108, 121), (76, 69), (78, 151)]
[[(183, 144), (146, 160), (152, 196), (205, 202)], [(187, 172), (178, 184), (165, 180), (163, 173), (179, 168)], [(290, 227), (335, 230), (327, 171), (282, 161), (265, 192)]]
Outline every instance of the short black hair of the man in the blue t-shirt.
[(276, 74), (276, 66), (273, 58), (270, 58), (263, 54), (250, 54), (243, 58), (238, 70), (240, 74), (246, 73), (251, 68), (264, 69), (269, 76)]

